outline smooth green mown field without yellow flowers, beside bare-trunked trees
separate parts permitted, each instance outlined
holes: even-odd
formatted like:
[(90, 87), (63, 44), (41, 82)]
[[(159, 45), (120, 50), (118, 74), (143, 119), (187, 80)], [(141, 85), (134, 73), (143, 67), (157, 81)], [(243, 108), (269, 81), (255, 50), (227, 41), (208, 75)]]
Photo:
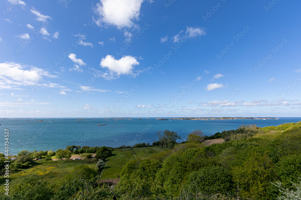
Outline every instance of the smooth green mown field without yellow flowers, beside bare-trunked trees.
[(113, 156), (109, 157), (106, 162), (106, 166), (101, 172), (101, 179), (113, 179), (118, 178), (123, 166), (132, 159), (140, 158), (144, 159), (152, 154), (160, 153), (154, 148), (133, 148), (133, 149), (116, 149), (113, 152)]

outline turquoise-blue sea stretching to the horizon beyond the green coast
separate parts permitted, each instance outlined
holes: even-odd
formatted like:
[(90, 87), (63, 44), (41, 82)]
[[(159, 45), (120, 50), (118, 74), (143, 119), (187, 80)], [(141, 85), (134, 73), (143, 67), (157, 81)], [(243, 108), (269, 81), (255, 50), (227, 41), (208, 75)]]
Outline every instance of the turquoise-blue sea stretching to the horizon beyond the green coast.
[[(33, 118), (32, 119), (0, 119), (0, 152), (4, 152), (4, 132), (9, 130), (9, 154), (17, 154), (21, 150), (46, 151), (65, 149), (67, 145), (109, 146), (134, 145), (140, 142), (152, 143), (157, 140), (156, 132), (172, 130), (178, 132), (183, 140), (189, 132), (201, 129), (204, 135), (213, 135), (223, 130), (237, 129), (242, 124), (257, 124), (259, 127), (277, 126), (283, 123), (298, 122), (301, 118), (279, 118), (267, 120), (168, 120), (159, 121), (154, 118)], [(96, 119), (96, 120), (93, 120)], [(132, 119), (132, 121), (127, 120)], [(27, 120), (29, 120), (27, 122)], [(43, 120), (43, 122), (36, 122)], [(110, 121), (109, 121), (110, 120)], [(107, 124), (107, 126), (97, 126)], [(1, 142), (1, 140), (3, 142)], [(18, 141), (21, 142), (18, 142)], [(179, 140), (178, 142), (181, 142)]]

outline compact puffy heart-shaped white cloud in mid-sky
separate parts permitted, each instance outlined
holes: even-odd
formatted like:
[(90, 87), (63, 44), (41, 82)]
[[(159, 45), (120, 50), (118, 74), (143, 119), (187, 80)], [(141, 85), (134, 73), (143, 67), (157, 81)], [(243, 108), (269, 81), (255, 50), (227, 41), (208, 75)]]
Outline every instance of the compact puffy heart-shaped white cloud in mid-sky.
[(135, 76), (133, 69), (135, 65), (139, 65), (139, 62), (135, 57), (130, 55), (123, 56), (119, 60), (116, 60), (113, 55), (107, 55), (101, 59), (100, 66), (102, 68), (108, 68), (109, 73), (104, 74), (104, 78), (112, 79), (113, 76), (119, 77), (122, 74), (130, 74)]

